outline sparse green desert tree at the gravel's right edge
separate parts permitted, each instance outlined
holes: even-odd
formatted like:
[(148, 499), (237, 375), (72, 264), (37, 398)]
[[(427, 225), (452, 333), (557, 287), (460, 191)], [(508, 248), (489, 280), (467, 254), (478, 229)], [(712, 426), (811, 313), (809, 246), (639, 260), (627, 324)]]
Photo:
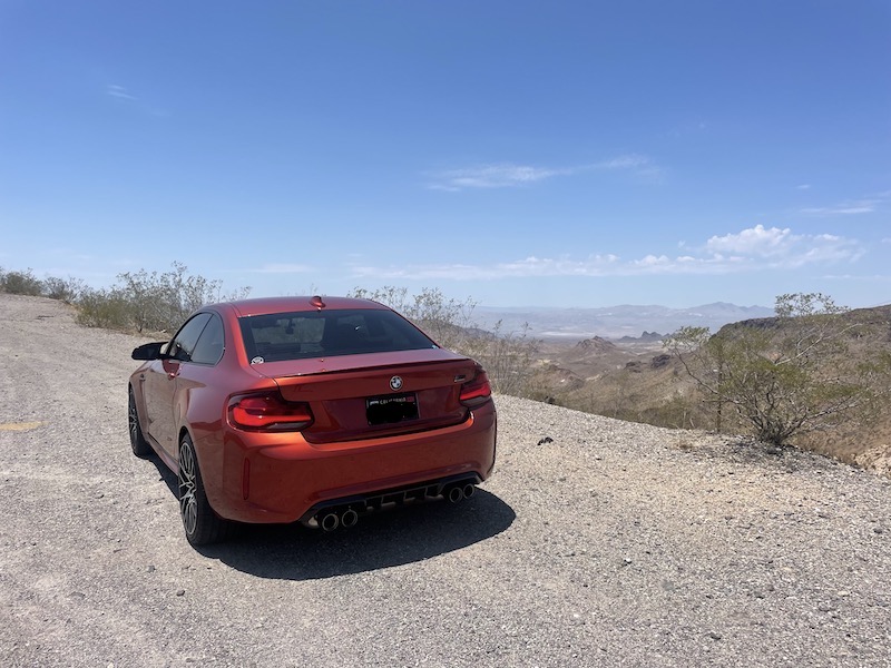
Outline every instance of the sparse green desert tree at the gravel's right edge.
[(755, 438), (786, 445), (797, 434), (861, 418), (888, 395), (888, 353), (849, 352), (868, 324), (820, 293), (781, 295), (775, 312), (714, 336), (683, 327), (666, 341), (715, 406), (717, 430), (731, 407)]

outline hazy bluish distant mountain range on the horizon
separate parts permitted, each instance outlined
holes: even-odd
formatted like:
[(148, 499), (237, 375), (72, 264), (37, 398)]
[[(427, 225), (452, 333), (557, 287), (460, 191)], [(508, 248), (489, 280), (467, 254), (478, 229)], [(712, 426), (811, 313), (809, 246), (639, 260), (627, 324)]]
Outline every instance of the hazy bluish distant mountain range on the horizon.
[(773, 308), (766, 306), (736, 306), (725, 302), (692, 308), (626, 304), (604, 308), (477, 306), (473, 310), (473, 318), (482, 328), (491, 330), (501, 321), (502, 332), (519, 332), (526, 323), (532, 336), (561, 341), (593, 336), (639, 338), (644, 334), (652, 340), (654, 334), (672, 334), (687, 325), (716, 332), (727, 323), (772, 315)]

